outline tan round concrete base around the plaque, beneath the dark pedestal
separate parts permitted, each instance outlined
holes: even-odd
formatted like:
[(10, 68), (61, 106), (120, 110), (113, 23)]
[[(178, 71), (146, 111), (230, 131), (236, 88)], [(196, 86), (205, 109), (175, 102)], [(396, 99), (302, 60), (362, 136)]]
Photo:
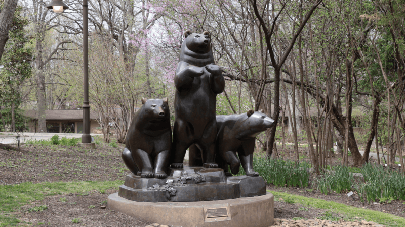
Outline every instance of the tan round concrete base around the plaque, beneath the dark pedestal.
[(114, 193), (109, 209), (143, 220), (173, 226), (256, 226), (268, 227), (274, 220), (274, 196), (242, 197), (200, 202), (136, 202)]

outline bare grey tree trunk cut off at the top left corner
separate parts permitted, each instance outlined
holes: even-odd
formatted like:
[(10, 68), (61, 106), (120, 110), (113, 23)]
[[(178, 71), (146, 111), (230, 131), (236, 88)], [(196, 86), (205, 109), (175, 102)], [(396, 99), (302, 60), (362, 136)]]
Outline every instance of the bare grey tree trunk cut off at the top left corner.
[(2, 59), (4, 46), (9, 39), (9, 29), (13, 21), (17, 0), (5, 0), (0, 12), (0, 60)]

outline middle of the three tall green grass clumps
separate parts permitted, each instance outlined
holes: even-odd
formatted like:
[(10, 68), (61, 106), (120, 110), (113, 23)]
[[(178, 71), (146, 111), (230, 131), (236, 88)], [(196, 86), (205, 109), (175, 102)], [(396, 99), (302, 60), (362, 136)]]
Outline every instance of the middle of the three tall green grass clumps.
[(327, 195), (328, 192), (350, 190), (353, 186), (354, 178), (350, 173), (350, 168), (346, 166), (335, 166), (331, 171), (325, 171), (317, 180), (318, 190)]

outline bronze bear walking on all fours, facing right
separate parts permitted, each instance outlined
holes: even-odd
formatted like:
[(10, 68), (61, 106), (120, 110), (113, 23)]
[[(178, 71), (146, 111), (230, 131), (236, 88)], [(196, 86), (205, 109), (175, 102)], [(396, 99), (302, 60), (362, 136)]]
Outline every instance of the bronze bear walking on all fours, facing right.
[[(216, 118), (216, 162), (225, 172), (228, 172), (229, 164), (232, 174), (237, 174), (242, 164), (247, 176), (259, 176), (253, 169), (256, 136), (273, 127), (274, 120), (265, 115), (263, 110), (255, 112), (252, 109), (240, 115), (219, 115)], [(197, 146), (189, 148), (189, 159), (190, 166), (201, 165), (200, 149)]]

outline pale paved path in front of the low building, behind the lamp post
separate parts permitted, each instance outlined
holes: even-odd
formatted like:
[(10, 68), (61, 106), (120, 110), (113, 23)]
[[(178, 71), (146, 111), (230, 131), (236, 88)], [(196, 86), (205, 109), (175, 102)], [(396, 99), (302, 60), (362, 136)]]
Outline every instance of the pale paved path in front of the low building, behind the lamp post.
[[(17, 135), (19, 135), (20, 143), (25, 143), (27, 140), (49, 140), (53, 135), (58, 135), (59, 138), (82, 138), (82, 133), (0, 133), (0, 143), (3, 144), (16, 144)], [(103, 134), (90, 134), (91, 136), (102, 136)]]

